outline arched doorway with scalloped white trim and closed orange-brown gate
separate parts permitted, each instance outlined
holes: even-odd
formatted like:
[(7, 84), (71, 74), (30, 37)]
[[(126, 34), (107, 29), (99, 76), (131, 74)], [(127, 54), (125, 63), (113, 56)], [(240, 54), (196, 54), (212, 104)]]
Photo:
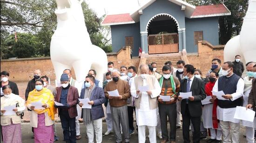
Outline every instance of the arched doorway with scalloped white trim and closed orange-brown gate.
[(169, 14), (157, 14), (148, 21), (148, 53), (179, 52), (179, 24)]

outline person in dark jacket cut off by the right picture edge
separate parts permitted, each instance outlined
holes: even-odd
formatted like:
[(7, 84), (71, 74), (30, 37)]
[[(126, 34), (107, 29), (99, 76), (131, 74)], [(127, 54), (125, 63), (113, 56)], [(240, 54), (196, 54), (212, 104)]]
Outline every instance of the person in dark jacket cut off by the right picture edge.
[(249, 93), (248, 105), (246, 108), (252, 108), (256, 111), (256, 65), (253, 66), (254, 79), (252, 80), (252, 88)]

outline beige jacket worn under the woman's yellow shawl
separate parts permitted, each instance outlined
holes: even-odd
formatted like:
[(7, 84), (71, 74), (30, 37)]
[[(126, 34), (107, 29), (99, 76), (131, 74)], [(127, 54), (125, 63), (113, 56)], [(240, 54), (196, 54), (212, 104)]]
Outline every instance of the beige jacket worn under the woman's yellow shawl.
[[(27, 108), (31, 110), (30, 107), (31, 107), (31, 104), (28, 104)], [(49, 106), (47, 105), (47, 108), (48, 107)], [(45, 112), (44, 115), (45, 115), (45, 126), (50, 126), (54, 124), (54, 120), (51, 119), (51, 117), (48, 115), (48, 112)], [(37, 128), (37, 121), (38, 121), (37, 113), (34, 110), (32, 110), (30, 114), (30, 126)]]

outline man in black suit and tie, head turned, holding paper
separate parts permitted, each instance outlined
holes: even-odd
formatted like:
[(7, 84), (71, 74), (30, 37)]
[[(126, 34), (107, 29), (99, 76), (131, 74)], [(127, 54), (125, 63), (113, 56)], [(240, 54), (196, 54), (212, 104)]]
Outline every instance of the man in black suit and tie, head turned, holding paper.
[[(190, 143), (189, 139), (189, 125), (192, 122), (194, 133), (193, 142), (200, 142), (200, 124), (202, 115), (201, 100), (205, 99), (204, 82), (195, 78), (195, 68), (193, 65), (187, 64), (184, 66), (184, 79), (181, 81), (178, 99), (182, 100), (181, 113), (182, 113), (182, 133), (184, 143)], [(182, 99), (182, 93), (191, 92), (189, 99)]]

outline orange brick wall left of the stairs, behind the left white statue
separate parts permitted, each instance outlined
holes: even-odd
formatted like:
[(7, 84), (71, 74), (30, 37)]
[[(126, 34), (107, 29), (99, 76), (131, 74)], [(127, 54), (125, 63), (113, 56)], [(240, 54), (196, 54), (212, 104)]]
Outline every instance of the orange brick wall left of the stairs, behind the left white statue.
[[(124, 47), (116, 53), (107, 53), (107, 56), (108, 61), (114, 62), (116, 68), (120, 68), (122, 65), (139, 67), (140, 59), (130, 58), (129, 47)], [(42, 74), (47, 75), (51, 81), (55, 80), (54, 67), (50, 57), (7, 59), (1, 60), (0, 65), (1, 71), (6, 70), (10, 73), (10, 81), (29, 81), (33, 78), (35, 69), (40, 69)], [(75, 78), (75, 74), (73, 76)]]

